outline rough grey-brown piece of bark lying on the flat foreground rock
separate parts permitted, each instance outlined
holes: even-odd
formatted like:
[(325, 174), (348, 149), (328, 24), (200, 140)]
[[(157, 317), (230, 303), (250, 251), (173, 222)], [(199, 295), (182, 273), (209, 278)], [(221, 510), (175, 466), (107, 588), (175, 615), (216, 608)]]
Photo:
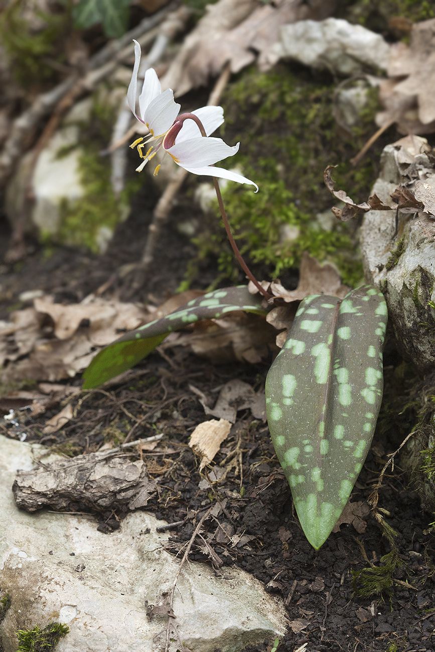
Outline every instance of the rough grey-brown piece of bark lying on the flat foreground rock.
[(50, 507), (102, 513), (144, 507), (155, 484), (142, 460), (91, 453), (18, 471), (12, 492), (18, 507), (27, 512)]

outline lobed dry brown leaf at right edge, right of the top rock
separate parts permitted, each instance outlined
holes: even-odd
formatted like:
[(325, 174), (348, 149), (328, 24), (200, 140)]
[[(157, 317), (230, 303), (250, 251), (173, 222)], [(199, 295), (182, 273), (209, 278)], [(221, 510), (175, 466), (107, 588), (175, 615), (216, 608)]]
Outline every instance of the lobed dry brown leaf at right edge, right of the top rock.
[(391, 46), (388, 75), (380, 85), (385, 111), (376, 115), (376, 123), (396, 122), (403, 134), (434, 132), (435, 18), (413, 25), (409, 46)]

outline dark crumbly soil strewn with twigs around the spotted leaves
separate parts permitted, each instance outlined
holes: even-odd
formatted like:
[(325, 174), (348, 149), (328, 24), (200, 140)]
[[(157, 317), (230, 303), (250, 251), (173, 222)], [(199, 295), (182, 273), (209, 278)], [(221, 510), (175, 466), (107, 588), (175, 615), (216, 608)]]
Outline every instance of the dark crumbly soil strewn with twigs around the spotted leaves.
[[(148, 215), (151, 203), (149, 198)], [(103, 284), (114, 267), (140, 257), (145, 234), (142, 206), (141, 220), (133, 216), (119, 228), (116, 246), (112, 245), (106, 256), (59, 249), (44, 258), (44, 252), (36, 248), (15, 269), (3, 265), (1, 317), (11, 308), (22, 307), (18, 295), (28, 289), (54, 293), (57, 301), (80, 301)], [(142, 297), (135, 298), (143, 300), (151, 292), (164, 299), (165, 293), (171, 293), (181, 279), (190, 246), (170, 220), (157, 252), (164, 265), (155, 266), (152, 284), (147, 283)], [(2, 247), (4, 253), (5, 240)], [(122, 299), (124, 288), (117, 281), (112, 291)], [(170, 523), (183, 522), (173, 528), (170, 539), (170, 550), (176, 553), (190, 540), (204, 511), (218, 505), (215, 516), (205, 520), (203, 539), (194, 542), (190, 559), (210, 563), (217, 574), (225, 573), (226, 566), (241, 567), (262, 581), (267, 591), (282, 596), (290, 625), (278, 652), (294, 651), (304, 643), (308, 645), (302, 649), (307, 652), (435, 650), (434, 537), (426, 529), (430, 516), (422, 511), (397, 466), (385, 477), (378, 503), (389, 512), (385, 512), (385, 520), (397, 536), (389, 541), (370, 514), (365, 531), (357, 533), (352, 524), (342, 525), (316, 552), (297, 521), (290, 488), (265, 423), (254, 420), (247, 410), (239, 411), (214, 460), (217, 475), (227, 471), (220, 482), (206, 482), (211, 468), (200, 475), (198, 458), (187, 445), (190, 432), (204, 421), (203, 408), (189, 385), (209, 396), (213, 404), (218, 389), (234, 378), (261, 389), (267, 364), (217, 366), (186, 349), (174, 348), (153, 353), (139, 370), (127, 383), (112, 383), (105, 394), (98, 390), (88, 394), (76, 419), (60, 432), (40, 435), (42, 424), (57, 413), (57, 407), (36, 421), (20, 413), (20, 432), (26, 433), (27, 441), (65, 451), (69, 447), (70, 454), (97, 451), (104, 439), (110, 438), (108, 428), (118, 437), (117, 443), (125, 436), (131, 441), (163, 432), (158, 447), (143, 452), (148, 473), (159, 488), (147, 511)], [(79, 385), (80, 379), (74, 383)], [(133, 417), (144, 417), (142, 422), (135, 425), (137, 421), (127, 417), (125, 409)], [(6, 422), (2, 432), (18, 436), (16, 428)], [(353, 490), (353, 502), (367, 501), (387, 453), (397, 448), (400, 437), (391, 429), (375, 436)], [(132, 456), (138, 454), (132, 452)], [(110, 536), (110, 531), (122, 527), (123, 515), (97, 514), (96, 527), (98, 521)], [(240, 538), (234, 539), (234, 535)], [(249, 652), (266, 652), (266, 646)]]

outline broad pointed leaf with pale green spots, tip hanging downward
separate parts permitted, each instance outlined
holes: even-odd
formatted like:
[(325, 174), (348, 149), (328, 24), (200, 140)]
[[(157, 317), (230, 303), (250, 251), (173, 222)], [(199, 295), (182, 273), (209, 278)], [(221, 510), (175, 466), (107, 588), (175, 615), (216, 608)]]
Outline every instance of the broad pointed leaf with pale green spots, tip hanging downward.
[(318, 550), (365, 462), (382, 401), (387, 305), (370, 286), (306, 297), (266, 379), (273, 445)]

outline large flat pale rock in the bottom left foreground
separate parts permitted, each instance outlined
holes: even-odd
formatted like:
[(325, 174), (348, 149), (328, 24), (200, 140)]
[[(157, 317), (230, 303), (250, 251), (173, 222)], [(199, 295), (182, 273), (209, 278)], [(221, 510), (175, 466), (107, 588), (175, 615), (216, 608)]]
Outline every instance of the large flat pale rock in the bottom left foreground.
[[(0, 625), (5, 652), (15, 652), (17, 630), (53, 621), (70, 628), (57, 652), (151, 650), (166, 618), (147, 621), (145, 606), (164, 604), (179, 569), (164, 550), (168, 535), (156, 533), (162, 522), (134, 512), (104, 535), (85, 514), (19, 511), (11, 491), (16, 470), (30, 469), (44, 452), (0, 436), (0, 587), (12, 599)], [(236, 652), (286, 630), (282, 602), (235, 568), (215, 576), (207, 565), (187, 563), (173, 611), (183, 644), (195, 652)]]

